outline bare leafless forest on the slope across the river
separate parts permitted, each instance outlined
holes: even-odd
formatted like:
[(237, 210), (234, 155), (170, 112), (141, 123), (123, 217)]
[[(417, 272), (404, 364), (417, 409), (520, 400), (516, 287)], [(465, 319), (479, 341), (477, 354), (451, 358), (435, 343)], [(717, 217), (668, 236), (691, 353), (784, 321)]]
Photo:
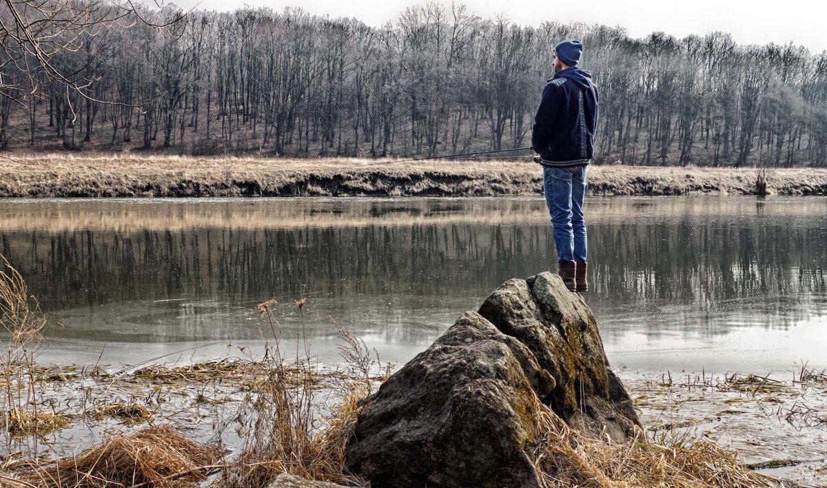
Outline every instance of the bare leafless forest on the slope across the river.
[(598, 162), (827, 166), (827, 52), (798, 45), (517, 26), (437, 4), (381, 28), (299, 9), (38, 5), (0, 5), (3, 150), (412, 157), (528, 146), (552, 47), (579, 38), (601, 89)]

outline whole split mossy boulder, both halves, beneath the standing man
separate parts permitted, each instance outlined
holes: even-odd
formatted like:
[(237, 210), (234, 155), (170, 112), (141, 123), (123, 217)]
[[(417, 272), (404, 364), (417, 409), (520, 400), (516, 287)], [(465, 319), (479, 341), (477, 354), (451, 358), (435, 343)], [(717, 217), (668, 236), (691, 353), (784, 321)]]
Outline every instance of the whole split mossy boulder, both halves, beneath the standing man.
[(540, 401), (623, 441), (638, 424), (595, 318), (550, 273), (509, 280), (370, 397), (347, 467), (371, 486), (539, 486)]

